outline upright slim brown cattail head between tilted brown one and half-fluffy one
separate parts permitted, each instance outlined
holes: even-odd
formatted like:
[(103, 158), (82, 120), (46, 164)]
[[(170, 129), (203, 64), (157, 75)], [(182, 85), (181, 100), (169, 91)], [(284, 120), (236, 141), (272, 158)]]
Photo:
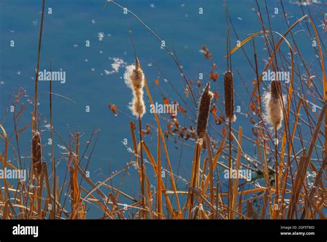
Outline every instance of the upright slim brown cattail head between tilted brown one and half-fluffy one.
[(232, 72), (224, 73), (224, 88), (225, 88), (225, 113), (229, 121), (235, 121), (234, 115), (234, 86), (232, 81)]

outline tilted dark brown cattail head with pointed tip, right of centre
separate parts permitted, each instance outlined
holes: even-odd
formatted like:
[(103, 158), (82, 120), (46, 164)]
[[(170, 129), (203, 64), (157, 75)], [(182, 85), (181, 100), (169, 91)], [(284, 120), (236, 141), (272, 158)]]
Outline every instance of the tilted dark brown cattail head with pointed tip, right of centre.
[(197, 117), (197, 135), (199, 136), (199, 139), (202, 139), (204, 134), (206, 134), (210, 102), (212, 97), (213, 95), (210, 92), (210, 82), (208, 81), (206, 88), (204, 88), (204, 93), (201, 96), (199, 115)]

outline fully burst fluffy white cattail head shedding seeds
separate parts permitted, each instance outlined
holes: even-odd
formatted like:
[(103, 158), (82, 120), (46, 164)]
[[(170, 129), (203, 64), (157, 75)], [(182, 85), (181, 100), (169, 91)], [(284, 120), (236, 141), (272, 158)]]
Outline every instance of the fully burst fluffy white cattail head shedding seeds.
[(136, 117), (142, 117), (146, 113), (146, 105), (143, 100), (144, 74), (139, 64), (139, 59), (135, 57), (135, 65), (126, 67), (126, 84), (132, 89), (133, 99), (130, 109)]

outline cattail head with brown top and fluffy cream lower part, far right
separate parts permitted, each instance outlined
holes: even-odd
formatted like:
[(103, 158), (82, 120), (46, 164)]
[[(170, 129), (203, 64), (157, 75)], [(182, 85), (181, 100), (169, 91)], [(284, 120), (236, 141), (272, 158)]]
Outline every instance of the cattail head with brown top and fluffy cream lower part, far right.
[(266, 104), (266, 121), (273, 125), (277, 130), (281, 128), (283, 121), (281, 84), (279, 81), (272, 81), (270, 84), (270, 92), (264, 95)]

